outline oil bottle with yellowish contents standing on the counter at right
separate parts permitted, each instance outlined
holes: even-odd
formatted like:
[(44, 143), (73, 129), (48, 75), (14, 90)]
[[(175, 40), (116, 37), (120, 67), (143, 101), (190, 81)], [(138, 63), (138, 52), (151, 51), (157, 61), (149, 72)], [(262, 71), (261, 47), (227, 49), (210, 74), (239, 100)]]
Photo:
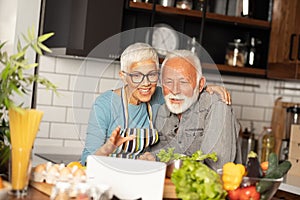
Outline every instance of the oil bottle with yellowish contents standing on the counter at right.
[(262, 149), (260, 162), (268, 161), (269, 155), (275, 150), (275, 137), (272, 132), (272, 128), (267, 127), (264, 130), (262, 137)]

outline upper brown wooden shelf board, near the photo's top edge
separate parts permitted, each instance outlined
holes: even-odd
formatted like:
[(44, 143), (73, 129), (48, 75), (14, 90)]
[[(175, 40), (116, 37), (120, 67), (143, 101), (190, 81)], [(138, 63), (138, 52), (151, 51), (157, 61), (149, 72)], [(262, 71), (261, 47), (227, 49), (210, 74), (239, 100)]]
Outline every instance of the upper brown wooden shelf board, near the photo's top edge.
[[(152, 10), (152, 3), (143, 3), (143, 2), (133, 2), (130, 1), (129, 8), (135, 8), (135, 9), (143, 9), (143, 10)], [(189, 16), (189, 17), (202, 17), (202, 12), (197, 10), (185, 10), (175, 7), (164, 7), (161, 5), (156, 5), (155, 8), (156, 12), (158, 13), (165, 13), (165, 14), (173, 14), (173, 15), (183, 15), (183, 16)], [(244, 17), (235, 17), (235, 16), (228, 16), (228, 15), (220, 15), (217, 13), (206, 13), (206, 19), (208, 20), (215, 20), (220, 22), (227, 22), (227, 23), (233, 23), (235, 25), (248, 25), (253, 26), (256, 28), (263, 28), (263, 29), (269, 29), (271, 27), (270, 22), (264, 21), (264, 20), (258, 20), (258, 19), (250, 19), (250, 18), (244, 18)]]

